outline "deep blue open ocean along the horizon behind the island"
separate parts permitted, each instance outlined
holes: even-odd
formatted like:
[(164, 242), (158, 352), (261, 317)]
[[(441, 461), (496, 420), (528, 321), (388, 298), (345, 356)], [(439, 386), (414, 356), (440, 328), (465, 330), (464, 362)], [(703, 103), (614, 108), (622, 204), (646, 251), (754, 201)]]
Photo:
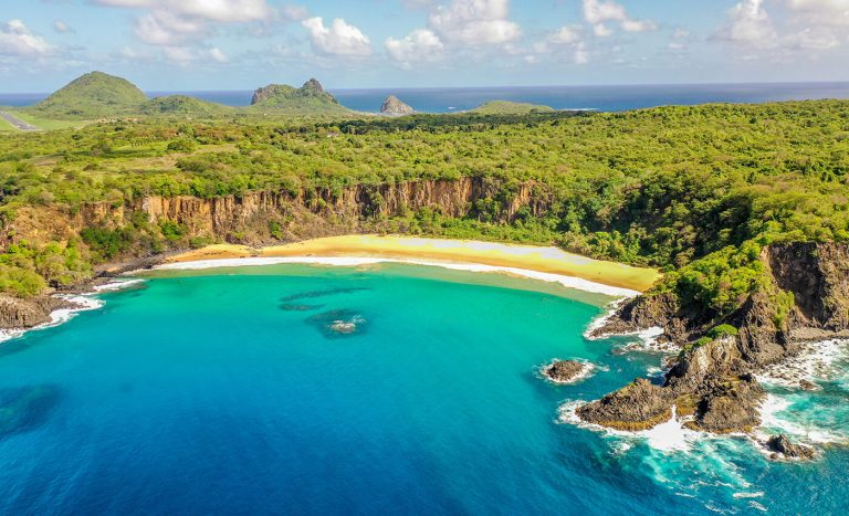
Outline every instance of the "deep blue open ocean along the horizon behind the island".
[[(149, 92), (149, 96), (185, 94), (229, 106), (247, 106), (252, 91)], [(339, 102), (356, 110), (376, 113), (392, 94), (422, 113), (472, 109), (489, 101), (513, 101), (556, 109), (620, 112), (662, 105), (705, 103), (764, 103), (819, 98), (849, 98), (849, 83), (691, 84), (626, 86), (545, 86), (475, 88), (334, 89)], [(0, 94), (0, 106), (34, 104), (46, 94)]]

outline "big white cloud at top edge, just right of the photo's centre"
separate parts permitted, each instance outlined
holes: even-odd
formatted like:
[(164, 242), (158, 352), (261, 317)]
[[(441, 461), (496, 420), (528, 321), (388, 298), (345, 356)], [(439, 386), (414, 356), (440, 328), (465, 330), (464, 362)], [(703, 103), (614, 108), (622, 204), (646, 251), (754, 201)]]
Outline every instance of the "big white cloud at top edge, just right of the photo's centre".
[(509, 0), (453, 0), (450, 6), (433, 9), (428, 24), (450, 43), (509, 43), (522, 34), (518, 24), (509, 19)]

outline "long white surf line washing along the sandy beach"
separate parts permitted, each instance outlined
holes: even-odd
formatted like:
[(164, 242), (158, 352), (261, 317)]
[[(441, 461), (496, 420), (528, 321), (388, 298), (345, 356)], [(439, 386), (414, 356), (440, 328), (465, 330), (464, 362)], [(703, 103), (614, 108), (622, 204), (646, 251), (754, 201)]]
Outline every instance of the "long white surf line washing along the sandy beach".
[(329, 265), (339, 267), (356, 267), (365, 265), (375, 265), (379, 263), (406, 263), (410, 265), (423, 265), (431, 267), (450, 268), (453, 271), (468, 271), (479, 273), (500, 273), (514, 276), (539, 280), (548, 283), (559, 283), (567, 288), (602, 294), (610, 297), (633, 297), (640, 293), (629, 288), (621, 288), (601, 283), (590, 282), (574, 276), (562, 274), (552, 274), (527, 268), (506, 267), (497, 265), (484, 265), (480, 263), (460, 263), (441, 262), (433, 260), (408, 260), (408, 259), (388, 259), (388, 257), (346, 257), (346, 256), (280, 256), (280, 257), (242, 257), (242, 259), (221, 259), (221, 260), (200, 260), (196, 262), (175, 262), (158, 265), (156, 270), (160, 271), (199, 271), (205, 268), (219, 267), (240, 267), (255, 265), (280, 265), (280, 264), (306, 264), (306, 265)]

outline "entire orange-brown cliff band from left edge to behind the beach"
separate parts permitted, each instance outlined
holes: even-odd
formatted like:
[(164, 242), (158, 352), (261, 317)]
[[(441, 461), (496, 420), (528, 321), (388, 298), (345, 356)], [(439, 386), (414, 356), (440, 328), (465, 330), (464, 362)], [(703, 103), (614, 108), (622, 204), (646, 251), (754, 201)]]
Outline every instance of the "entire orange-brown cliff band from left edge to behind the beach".
[[(374, 231), (394, 217), (430, 209), (447, 217), (474, 215), (476, 201), (499, 194), (502, 185), (485, 178), (419, 180), (395, 185), (357, 185), (342, 190), (328, 188), (287, 191), (256, 191), (244, 196), (212, 199), (151, 196), (127, 204), (106, 202), (69, 211), (59, 207), (18, 211), (0, 236), (0, 245), (21, 240), (48, 242), (77, 236), (90, 227), (122, 228), (143, 214), (151, 224), (175, 222), (188, 236), (260, 244), (274, 239)], [(548, 209), (545, 190), (520, 183), (512, 194), (500, 198), (500, 218), (512, 221), (522, 209), (541, 215)], [(281, 231), (272, 235), (270, 224)]]

